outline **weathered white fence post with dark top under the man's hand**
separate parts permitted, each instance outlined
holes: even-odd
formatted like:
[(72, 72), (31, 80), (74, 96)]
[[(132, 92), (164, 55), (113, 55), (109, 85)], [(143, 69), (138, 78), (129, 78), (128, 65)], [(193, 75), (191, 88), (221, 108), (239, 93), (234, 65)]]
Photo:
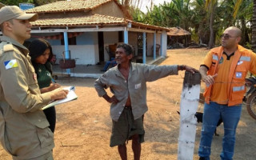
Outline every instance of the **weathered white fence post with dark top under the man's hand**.
[(185, 73), (180, 106), (178, 160), (193, 160), (201, 75)]

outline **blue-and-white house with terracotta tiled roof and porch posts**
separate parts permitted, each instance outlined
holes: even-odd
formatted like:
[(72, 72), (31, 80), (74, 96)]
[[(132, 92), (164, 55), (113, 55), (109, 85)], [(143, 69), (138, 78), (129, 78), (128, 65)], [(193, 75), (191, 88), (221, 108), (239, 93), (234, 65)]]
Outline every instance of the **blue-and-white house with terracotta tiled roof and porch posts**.
[(32, 22), (32, 38), (46, 38), (57, 58), (64, 54), (76, 59), (78, 65), (109, 60), (106, 48), (118, 42), (134, 46), (135, 56), (144, 63), (146, 57), (156, 60), (166, 56), (169, 29), (130, 20), (116, 0), (59, 1), (26, 13), (39, 15)]

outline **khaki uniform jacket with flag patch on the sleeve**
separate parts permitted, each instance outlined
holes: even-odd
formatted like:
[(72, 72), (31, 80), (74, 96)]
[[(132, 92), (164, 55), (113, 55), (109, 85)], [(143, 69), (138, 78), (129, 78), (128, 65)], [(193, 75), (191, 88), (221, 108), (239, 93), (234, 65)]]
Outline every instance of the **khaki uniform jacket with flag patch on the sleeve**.
[(36, 158), (54, 147), (41, 110), (50, 94), (40, 94), (26, 47), (6, 36), (0, 39), (0, 140), (14, 159)]

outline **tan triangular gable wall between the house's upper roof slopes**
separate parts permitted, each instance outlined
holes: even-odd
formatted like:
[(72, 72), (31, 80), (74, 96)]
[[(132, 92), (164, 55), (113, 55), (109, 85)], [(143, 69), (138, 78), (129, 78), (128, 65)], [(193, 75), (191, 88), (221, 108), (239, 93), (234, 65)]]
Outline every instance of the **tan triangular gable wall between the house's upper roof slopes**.
[(119, 6), (114, 2), (107, 2), (102, 6), (98, 6), (95, 10), (92, 10), (91, 14), (103, 14), (110, 15), (118, 18), (124, 18), (124, 14)]

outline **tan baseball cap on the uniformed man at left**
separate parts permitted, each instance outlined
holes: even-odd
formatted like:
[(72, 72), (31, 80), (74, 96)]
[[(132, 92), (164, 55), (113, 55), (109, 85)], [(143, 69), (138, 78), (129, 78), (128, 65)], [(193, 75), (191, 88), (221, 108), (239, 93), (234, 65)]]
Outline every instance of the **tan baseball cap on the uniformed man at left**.
[(3, 6), (0, 10), (0, 24), (10, 19), (27, 19), (30, 22), (34, 22), (38, 19), (38, 14), (26, 14), (18, 6)]

